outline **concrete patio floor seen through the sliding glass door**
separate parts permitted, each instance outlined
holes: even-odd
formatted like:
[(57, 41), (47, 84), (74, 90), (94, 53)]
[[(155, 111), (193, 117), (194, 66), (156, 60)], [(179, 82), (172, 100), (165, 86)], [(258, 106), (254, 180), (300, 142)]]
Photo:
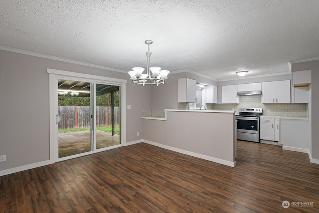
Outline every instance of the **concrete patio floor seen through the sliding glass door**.
[[(120, 136), (96, 130), (97, 149), (120, 144)], [(90, 131), (59, 134), (59, 158), (91, 150)]]

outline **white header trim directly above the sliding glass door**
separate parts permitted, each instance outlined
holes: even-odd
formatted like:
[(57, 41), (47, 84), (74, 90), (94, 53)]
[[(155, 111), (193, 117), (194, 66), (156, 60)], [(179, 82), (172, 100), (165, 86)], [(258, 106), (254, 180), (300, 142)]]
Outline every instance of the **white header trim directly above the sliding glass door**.
[(56, 75), (61, 76), (67, 76), (67, 77), (80, 77), (80, 78), (86, 78), (86, 79), (93, 79), (95, 81), (112, 81), (116, 83), (126, 83), (127, 80), (119, 79), (119, 78), (109, 78), (109, 77), (103, 77), (99, 75), (90, 75), (90, 74), (83, 74), (78, 72), (69, 72), (69, 71), (63, 71), (58, 69), (47, 69), (47, 73), (52, 73)]

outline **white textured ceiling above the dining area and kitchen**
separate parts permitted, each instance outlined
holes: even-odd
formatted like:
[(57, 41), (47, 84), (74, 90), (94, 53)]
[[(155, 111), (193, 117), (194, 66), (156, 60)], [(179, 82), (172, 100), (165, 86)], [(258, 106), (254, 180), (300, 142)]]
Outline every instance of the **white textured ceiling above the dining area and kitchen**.
[(319, 57), (319, 1), (0, 0), (0, 45), (130, 71), (216, 80), (288, 73)]

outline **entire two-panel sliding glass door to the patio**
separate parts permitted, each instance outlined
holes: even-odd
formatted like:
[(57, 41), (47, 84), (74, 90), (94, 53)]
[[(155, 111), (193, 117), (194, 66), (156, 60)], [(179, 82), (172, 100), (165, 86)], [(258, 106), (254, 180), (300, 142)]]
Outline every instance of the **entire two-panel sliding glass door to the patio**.
[(57, 79), (58, 158), (120, 145), (120, 86)]

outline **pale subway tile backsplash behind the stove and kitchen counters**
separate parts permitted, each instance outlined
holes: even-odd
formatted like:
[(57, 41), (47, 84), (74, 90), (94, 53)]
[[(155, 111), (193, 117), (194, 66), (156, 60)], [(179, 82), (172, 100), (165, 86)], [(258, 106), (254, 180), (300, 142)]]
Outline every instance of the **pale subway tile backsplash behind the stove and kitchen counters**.
[(207, 104), (208, 110), (234, 109), (238, 112), (239, 108), (246, 107), (262, 108), (263, 115), (308, 117), (307, 104), (262, 104), (261, 95), (240, 96), (240, 104)]

